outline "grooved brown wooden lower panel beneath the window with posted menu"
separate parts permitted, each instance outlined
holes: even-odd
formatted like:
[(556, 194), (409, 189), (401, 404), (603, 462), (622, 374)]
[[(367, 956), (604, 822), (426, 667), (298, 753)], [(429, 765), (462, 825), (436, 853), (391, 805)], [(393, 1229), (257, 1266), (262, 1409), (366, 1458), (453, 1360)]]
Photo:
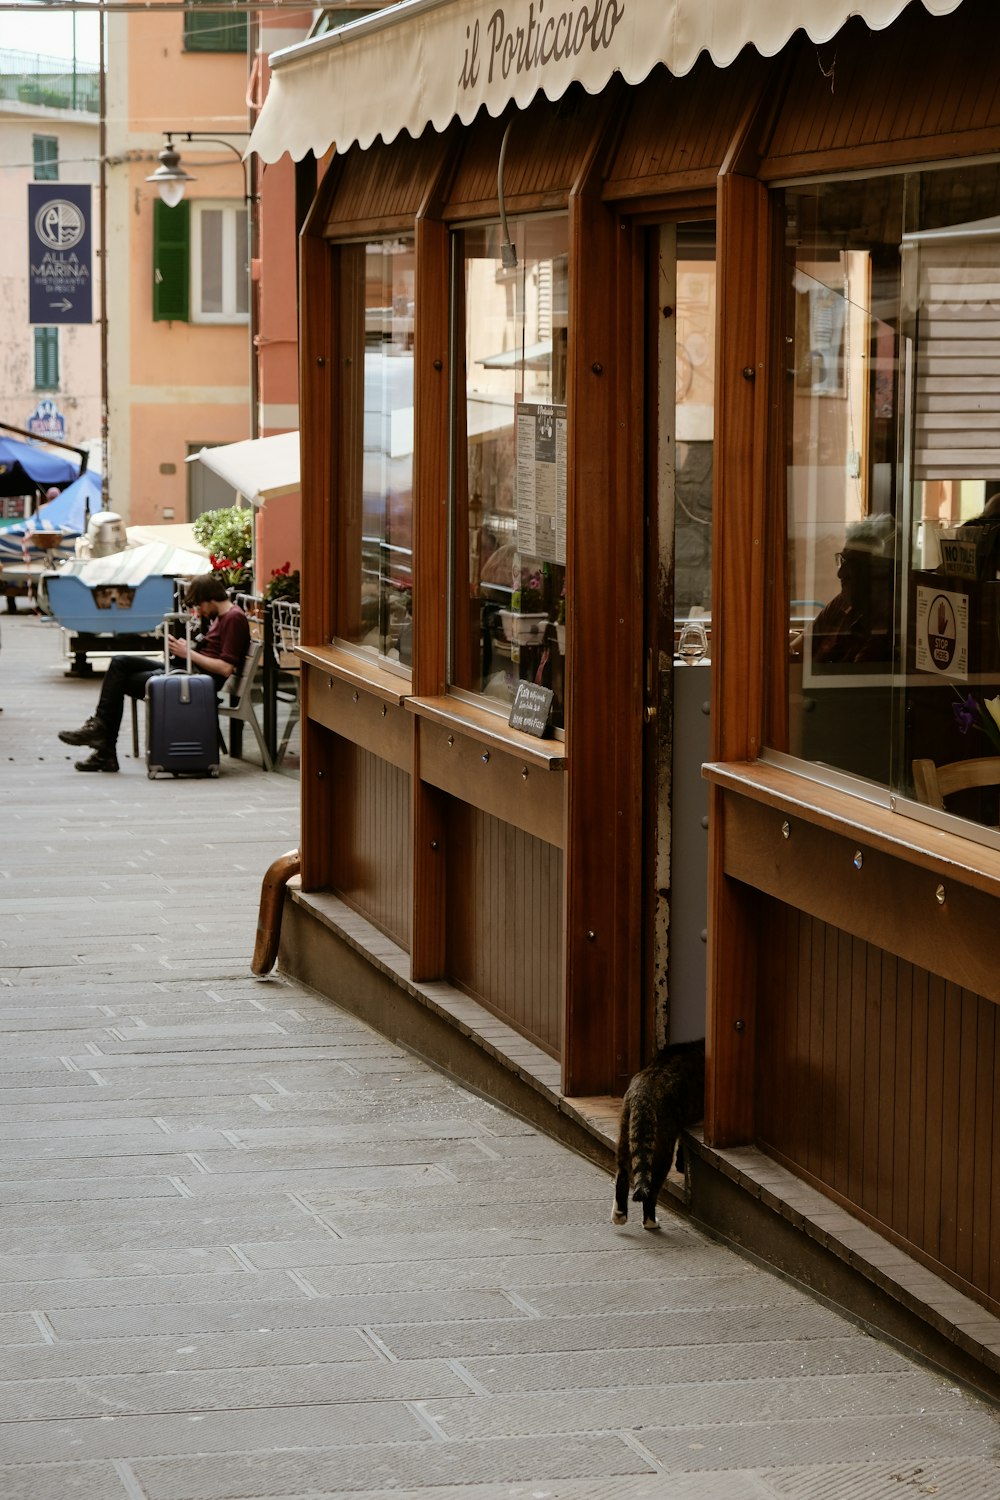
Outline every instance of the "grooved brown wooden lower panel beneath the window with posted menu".
[(553, 1058), (562, 1017), (562, 854), (447, 806), (448, 978)]

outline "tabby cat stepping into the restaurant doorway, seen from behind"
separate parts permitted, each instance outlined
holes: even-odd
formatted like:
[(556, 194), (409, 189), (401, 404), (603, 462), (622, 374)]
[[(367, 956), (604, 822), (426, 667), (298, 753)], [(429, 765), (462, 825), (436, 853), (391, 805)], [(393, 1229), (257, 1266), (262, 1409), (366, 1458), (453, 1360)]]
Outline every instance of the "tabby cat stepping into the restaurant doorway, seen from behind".
[(658, 1228), (657, 1198), (676, 1146), (682, 1170), (681, 1130), (705, 1114), (705, 1038), (661, 1047), (625, 1090), (618, 1132), (618, 1180), (612, 1224), (628, 1220), (628, 1188), (642, 1203), (642, 1227)]

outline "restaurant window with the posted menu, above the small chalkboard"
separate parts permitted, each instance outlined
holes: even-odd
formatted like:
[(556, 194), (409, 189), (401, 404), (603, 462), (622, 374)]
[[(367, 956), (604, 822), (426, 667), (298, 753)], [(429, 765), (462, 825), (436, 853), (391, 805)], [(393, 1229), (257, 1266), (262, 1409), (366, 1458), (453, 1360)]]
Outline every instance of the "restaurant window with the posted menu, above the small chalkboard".
[(519, 681), (562, 726), (567, 558), (565, 216), (456, 236), (451, 687), (505, 712)]

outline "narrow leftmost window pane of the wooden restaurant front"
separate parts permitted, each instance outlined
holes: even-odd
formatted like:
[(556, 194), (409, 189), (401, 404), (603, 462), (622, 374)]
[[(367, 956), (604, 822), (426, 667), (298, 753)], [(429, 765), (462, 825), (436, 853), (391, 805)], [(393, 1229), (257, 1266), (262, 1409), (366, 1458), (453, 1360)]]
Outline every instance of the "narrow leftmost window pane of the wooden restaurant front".
[(342, 514), (337, 636), (412, 657), (414, 240), (339, 250)]

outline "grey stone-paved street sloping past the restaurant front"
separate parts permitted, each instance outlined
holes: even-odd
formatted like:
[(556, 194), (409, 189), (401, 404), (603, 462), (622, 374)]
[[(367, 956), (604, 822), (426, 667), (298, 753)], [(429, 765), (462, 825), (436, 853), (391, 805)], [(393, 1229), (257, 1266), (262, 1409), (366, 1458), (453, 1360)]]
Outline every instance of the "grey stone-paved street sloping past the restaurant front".
[(252, 980), (297, 782), (78, 776), (0, 628), (0, 1500), (996, 1500), (979, 1400)]

